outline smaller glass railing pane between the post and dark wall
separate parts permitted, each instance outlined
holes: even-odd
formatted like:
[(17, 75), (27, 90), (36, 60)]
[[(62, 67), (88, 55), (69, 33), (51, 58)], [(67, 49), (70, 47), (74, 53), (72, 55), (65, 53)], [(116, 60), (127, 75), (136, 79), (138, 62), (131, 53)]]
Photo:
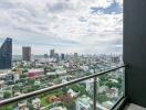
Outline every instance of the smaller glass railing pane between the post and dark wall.
[(124, 96), (124, 69), (102, 75), (97, 80), (97, 103), (111, 109)]

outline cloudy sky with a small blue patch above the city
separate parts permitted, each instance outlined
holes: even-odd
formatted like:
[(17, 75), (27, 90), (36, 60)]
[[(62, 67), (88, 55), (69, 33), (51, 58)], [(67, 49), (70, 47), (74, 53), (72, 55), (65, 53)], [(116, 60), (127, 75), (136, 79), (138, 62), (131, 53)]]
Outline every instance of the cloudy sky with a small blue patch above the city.
[(123, 0), (0, 0), (0, 44), (32, 54), (123, 51)]

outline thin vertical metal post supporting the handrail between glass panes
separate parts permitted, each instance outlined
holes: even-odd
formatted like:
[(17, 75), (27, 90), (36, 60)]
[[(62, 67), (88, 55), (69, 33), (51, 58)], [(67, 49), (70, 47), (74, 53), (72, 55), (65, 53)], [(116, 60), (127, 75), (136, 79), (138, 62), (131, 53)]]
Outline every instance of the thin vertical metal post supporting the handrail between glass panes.
[(94, 77), (94, 96), (93, 96), (93, 110), (96, 110), (96, 95), (97, 95), (97, 78)]

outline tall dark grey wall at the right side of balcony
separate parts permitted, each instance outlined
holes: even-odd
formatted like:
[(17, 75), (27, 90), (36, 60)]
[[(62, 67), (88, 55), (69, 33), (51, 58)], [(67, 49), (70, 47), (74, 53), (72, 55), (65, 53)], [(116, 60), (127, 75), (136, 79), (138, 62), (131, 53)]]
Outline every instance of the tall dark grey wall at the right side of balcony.
[(124, 62), (126, 96), (146, 107), (146, 0), (124, 1)]

